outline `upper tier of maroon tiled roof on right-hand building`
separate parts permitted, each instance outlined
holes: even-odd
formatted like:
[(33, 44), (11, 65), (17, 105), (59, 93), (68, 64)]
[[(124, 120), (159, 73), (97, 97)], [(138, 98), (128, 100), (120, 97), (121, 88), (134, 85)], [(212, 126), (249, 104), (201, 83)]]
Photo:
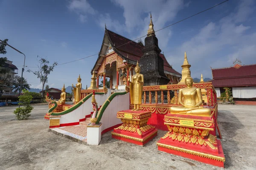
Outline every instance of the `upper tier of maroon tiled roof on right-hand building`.
[(212, 69), (213, 79), (224, 79), (231, 77), (248, 77), (256, 76), (256, 64), (242, 65), (240, 68), (215, 68)]

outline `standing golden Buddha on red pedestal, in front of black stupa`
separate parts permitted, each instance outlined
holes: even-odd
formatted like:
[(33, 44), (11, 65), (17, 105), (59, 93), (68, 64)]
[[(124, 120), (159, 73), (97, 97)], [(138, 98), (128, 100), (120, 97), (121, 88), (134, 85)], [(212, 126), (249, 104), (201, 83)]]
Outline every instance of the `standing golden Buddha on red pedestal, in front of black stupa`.
[(140, 67), (138, 61), (135, 67), (135, 73), (136, 74), (131, 77), (131, 81), (130, 77), (128, 77), (128, 81), (130, 82), (131, 104), (134, 105), (134, 109), (132, 109), (132, 111), (139, 111), (142, 102), (144, 76), (143, 74), (140, 74)]

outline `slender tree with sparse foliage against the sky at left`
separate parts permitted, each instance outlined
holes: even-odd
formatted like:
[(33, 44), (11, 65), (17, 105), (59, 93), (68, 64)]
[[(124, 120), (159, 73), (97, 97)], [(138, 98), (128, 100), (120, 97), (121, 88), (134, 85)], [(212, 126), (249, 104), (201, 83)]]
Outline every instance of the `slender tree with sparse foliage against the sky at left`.
[(40, 79), (40, 82), (42, 82), (43, 84), (43, 88), (42, 88), (42, 95), (44, 96), (44, 85), (45, 83), (48, 82), (48, 76), (49, 74), (53, 71), (53, 69), (55, 68), (56, 65), (58, 65), (57, 62), (53, 62), (52, 65), (49, 65), (49, 61), (47, 60), (47, 58), (41, 58), (38, 60), (39, 65), (38, 66), (38, 70), (37, 71), (32, 71), (32, 70), (28, 70), (28, 72), (32, 72), (34, 75), (36, 75), (38, 77), (38, 79)]

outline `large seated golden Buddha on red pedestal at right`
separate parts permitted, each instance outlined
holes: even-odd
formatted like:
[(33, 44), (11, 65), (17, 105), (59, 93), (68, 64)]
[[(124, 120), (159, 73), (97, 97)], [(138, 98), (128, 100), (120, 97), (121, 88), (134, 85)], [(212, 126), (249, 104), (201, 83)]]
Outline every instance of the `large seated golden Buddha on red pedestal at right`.
[[(201, 89), (192, 87), (193, 78), (186, 77), (185, 79), (186, 88), (181, 88), (179, 90), (179, 103), (182, 106), (171, 107), (171, 114), (189, 114), (196, 116), (210, 116), (211, 111), (209, 108), (201, 107), (203, 103)], [(184, 102), (182, 102), (182, 96), (184, 97)], [(197, 102), (198, 99), (198, 102)]]

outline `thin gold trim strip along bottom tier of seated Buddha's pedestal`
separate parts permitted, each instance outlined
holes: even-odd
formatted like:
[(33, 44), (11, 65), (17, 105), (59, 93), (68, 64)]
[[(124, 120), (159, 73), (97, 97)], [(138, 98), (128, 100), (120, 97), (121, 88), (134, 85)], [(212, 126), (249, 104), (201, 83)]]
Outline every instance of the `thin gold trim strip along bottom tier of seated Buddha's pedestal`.
[(188, 154), (195, 155), (195, 156), (200, 156), (200, 157), (204, 157), (204, 158), (208, 158), (208, 159), (213, 159), (215, 161), (225, 162), (225, 158), (220, 157), (220, 156), (214, 156), (214, 155), (211, 155), (211, 154), (201, 153), (201, 152), (197, 152), (197, 151), (194, 151), (194, 150), (188, 150), (188, 149), (175, 147), (175, 146), (171, 146), (171, 145), (167, 145), (167, 144), (160, 144), (158, 142), (157, 142), (157, 146), (164, 147), (164, 148), (171, 149), (171, 150), (176, 150), (176, 151), (183, 152), (183, 153), (188, 153)]

